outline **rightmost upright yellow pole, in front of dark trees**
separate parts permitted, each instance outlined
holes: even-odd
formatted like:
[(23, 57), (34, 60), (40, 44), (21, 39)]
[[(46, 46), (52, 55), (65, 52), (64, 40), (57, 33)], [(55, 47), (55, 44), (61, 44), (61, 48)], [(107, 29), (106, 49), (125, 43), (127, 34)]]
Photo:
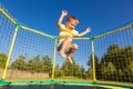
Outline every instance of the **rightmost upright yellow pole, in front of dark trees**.
[(95, 59), (94, 59), (94, 43), (91, 40), (91, 52), (92, 52), (92, 63), (93, 63), (93, 82), (95, 82)]

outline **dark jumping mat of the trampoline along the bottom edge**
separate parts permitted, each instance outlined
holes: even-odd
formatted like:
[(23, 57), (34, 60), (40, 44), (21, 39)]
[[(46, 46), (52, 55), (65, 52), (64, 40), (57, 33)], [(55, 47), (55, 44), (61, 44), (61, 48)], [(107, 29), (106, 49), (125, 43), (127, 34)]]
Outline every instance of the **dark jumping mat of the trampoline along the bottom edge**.
[(30, 86), (4, 86), (1, 89), (108, 89), (103, 87), (63, 86), (63, 85), (30, 85)]

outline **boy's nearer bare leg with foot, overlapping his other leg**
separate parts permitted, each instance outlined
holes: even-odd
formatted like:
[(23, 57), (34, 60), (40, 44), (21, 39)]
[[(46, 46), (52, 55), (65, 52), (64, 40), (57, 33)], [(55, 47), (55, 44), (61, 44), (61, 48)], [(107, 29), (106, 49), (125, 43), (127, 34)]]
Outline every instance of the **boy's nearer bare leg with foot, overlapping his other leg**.
[(59, 55), (63, 58), (66, 58), (66, 55), (64, 53), (66, 47), (71, 43), (72, 39), (71, 38), (66, 38), (64, 41), (63, 41), (63, 44), (62, 44), (62, 48), (61, 50), (59, 51)]

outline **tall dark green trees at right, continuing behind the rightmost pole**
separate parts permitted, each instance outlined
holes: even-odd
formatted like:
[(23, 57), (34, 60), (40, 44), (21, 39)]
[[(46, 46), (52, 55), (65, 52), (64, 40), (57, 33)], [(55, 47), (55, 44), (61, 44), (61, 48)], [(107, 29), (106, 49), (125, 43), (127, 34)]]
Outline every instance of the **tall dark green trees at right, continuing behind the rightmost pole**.
[[(94, 55), (95, 77), (98, 80), (133, 82), (133, 47), (120, 48), (111, 44), (99, 60)], [(92, 70), (92, 58), (88, 61), (88, 72)], [(90, 73), (89, 73), (90, 75)]]

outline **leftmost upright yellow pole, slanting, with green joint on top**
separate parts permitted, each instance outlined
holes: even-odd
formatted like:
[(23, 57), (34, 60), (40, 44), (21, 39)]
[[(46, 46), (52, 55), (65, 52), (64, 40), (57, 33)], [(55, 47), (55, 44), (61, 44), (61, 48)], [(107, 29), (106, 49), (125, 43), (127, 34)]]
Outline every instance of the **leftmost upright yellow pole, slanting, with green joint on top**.
[(11, 47), (9, 49), (8, 59), (7, 59), (7, 62), (6, 62), (6, 68), (3, 70), (2, 79), (6, 79), (6, 76), (7, 76), (7, 70), (8, 70), (8, 67), (9, 67), (9, 61), (11, 59), (11, 53), (12, 53), (12, 50), (13, 50), (13, 46), (14, 46), (14, 41), (16, 41), (16, 37), (17, 37), (17, 32), (18, 32), (19, 27), (20, 26), (16, 26), (16, 30), (14, 30), (13, 38), (12, 38), (12, 41), (11, 41)]

